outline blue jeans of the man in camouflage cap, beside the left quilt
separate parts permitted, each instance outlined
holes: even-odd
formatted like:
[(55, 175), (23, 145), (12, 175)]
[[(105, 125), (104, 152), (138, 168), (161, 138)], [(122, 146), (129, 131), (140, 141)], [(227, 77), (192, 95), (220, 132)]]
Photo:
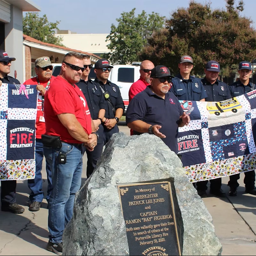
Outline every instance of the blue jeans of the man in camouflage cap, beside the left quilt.
[[(28, 180), (28, 188), (31, 190), (29, 199), (31, 202), (41, 202), (44, 198), (44, 192), (42, 190), (43, 180), (42, 180), (42, 164), (44, 158), (44, 150), (43, 150), (43, 143), (41, 139), (36, 139), (36, 173), (35, 179)], [(46, 173), (47, 173), (47, 181), (48, 181), (48, 188), (47, 188), (47, 196), (46, 200), (49, 202), (50, 194), (52, 191), (52, 173), (50, 170), (50, 165), (46, 160)]]

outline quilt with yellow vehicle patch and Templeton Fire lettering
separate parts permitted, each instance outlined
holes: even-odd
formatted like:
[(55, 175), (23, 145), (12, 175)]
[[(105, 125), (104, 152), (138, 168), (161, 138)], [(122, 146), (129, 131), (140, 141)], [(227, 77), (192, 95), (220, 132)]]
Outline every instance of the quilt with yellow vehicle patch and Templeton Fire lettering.
[(178, 136), (190, 182), (256, 169), (256, 90), (220, 102), (180, 104), (191, 119)]

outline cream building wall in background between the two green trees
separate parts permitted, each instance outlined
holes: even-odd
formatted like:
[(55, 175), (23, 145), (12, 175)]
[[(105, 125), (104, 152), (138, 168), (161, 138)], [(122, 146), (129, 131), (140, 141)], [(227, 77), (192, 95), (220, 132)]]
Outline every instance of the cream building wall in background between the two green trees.
[(109, 52), (106, 41), (108, 34), (55, 34), (62, 36), (62, 44), (71, 49), (81, 50), (83, 52), (101, 53)]

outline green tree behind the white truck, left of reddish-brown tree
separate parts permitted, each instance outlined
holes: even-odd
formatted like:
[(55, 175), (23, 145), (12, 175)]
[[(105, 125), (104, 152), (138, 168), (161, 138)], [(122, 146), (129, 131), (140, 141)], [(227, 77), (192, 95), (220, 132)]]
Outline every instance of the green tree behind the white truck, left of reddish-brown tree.
[[(103, 58), (112, 63), (127, 64), (138, 60), (138, 53), (147, 45), (147, 39), (154, 31), (161, 29), (164, 25), (163, 16), (152, 12), (147, 14), (144, 10), (135, 17), (135, 10), (121, 13), (117, 18), (117, 27), (112, 24), (107, 45), (110, 52), (103, 54)], [(107, 41), (106, 40), (106, 41)]]

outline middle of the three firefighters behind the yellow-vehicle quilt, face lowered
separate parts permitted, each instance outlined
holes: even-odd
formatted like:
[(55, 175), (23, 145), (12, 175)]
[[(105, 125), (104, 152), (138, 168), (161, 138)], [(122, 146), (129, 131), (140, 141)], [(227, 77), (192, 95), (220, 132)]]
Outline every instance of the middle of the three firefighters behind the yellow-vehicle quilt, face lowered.
[[(205, 92), (207, 93), (205, 101), (222, 101), (231, 98), (228, 85), (218, 80), (220, 64), (217, 61), (208, 61), (205, 65), (204, 73), (205, 77), (202, 79), (202, 83), (204, 85)], [(208, 180), (198, 181), (196, 183), (196, 189), (199, 196), (207, 197), (207, 183)], [(210, 183), (211, 194), (219, 197), (226, 196), (221, 189), (221, 178), (210, 180)]]

